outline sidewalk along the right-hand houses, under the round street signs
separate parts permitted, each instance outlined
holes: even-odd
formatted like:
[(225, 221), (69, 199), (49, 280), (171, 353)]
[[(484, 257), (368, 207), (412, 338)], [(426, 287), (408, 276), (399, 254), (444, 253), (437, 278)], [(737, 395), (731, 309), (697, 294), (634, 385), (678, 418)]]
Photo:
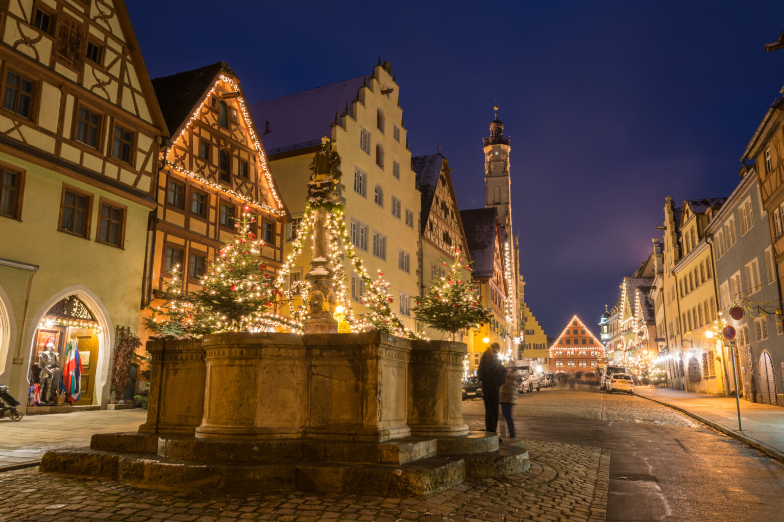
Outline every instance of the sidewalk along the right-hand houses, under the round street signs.
[(640, 397), (680, 410), (784, 462), (784, 408), (741, 399), (743, 430), (739, 431), (735, 398), (646, 386), (638, 386), (636, 392)]

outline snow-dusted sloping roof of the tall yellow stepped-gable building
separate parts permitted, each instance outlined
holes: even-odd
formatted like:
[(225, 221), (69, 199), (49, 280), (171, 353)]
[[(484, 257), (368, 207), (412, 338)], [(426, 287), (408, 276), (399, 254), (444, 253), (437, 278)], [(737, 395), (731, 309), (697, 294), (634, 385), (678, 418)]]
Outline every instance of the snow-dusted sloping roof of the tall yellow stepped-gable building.
[[(281, 149), (299, 149), (321, 143), (322, 136), (331, 135), (329, 125), (335, 121), (335, 114), (342, 114), (346, 106), (351, 111), (351, 102), (357, 99), (359, 88), (365, 85), (365, 78), (358, 76), (252, 103), (250, 113), (264, 129), (260, 136), (264, 149), (268, 153), (277, 153)], [(270, 122), (268, 131), (267, 121)]]

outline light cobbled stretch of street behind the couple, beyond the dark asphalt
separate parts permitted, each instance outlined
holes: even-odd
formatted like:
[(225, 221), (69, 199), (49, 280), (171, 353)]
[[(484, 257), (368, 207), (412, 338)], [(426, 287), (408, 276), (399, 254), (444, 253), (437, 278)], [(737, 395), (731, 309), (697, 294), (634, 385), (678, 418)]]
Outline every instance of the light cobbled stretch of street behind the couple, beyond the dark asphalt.
[[(647, 399), (626, 394), (606, 394), (595, 389), (542, 388), (517, 398), (514, 417), (574, 417), (621, 423), (701, 427), (690, 417)], [(481, 399), (463, 401), (463, 416), (470, 427), (485, 427)]]

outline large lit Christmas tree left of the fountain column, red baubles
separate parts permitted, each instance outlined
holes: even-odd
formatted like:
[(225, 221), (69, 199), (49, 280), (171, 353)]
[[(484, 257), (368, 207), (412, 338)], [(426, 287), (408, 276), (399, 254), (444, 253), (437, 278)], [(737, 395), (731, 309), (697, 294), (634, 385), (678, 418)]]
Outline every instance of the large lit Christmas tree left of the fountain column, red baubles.
[(282, 322), (274, 314), (279, 292), (261, 256), (264, 242), (252, 232), (254, 222), (250, 207), (242, 207), (241, 217), (234, 223), (238, 229), (234, 242), (209, 261), (208, 272), (201, 278), (202, 288), (194, 293), (196, 333), (268, 329)]

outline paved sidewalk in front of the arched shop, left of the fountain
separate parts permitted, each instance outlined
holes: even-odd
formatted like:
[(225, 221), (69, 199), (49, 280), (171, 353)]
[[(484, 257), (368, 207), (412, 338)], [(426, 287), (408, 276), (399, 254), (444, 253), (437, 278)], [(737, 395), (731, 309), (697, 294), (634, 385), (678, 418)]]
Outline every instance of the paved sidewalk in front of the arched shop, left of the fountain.
[(89, 446), (93, 434), (136, 431), (145, 420), (140, 408), (0, 419), (0, 471), (37, 466), (51, 448)]

